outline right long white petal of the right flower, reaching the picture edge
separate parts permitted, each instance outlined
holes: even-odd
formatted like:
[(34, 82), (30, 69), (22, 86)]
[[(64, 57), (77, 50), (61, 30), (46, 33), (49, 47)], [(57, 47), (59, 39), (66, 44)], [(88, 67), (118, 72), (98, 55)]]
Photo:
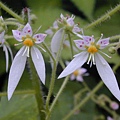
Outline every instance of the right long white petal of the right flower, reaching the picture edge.
[(98, 73), (103, 82), (111, 91), (111, 93), (120, 101), (120, 90), (111, 67), (106, 62), (106, 60), (98, 53), (95, 55), (95, 61)]

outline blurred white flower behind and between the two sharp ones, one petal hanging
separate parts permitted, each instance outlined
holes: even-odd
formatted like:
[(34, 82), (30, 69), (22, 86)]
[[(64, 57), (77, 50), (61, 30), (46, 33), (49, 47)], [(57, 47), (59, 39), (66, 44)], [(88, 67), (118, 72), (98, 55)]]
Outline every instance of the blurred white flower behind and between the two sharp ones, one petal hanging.
[[(51, 50), (54, 53), (57, 53), (60, 48), (60, 43), (62, 40), (63, 32), (70, 31), (74, 34), (77, 32), (81, 32), (81, 28), (78, 27), (78, 24), (74, 23), (75, 16), (66, 16), (64, 17), (63, 14), (60, 15), (60, 19), (58, 20), (58, 24), (61, 24), (61, 28), (54, 34), (52, 41), (51, 41)], [(66, 34), (64, 35), (64, 39), (66, 38)]]

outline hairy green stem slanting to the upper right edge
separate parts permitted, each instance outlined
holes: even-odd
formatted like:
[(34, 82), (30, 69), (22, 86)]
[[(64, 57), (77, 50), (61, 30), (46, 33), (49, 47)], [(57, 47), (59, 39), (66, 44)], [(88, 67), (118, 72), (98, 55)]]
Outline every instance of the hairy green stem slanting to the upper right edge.
[(104, 22), (105, 20), (109, 19), (112, 15), (120, 10), (120, 4), (118, 4), (115, 8), (108, 11), (105, 15), (101, 16), (99, 19), (95, 20), (91, 24), (84, 27), (84, 29), (89, 29), (91, 27), (97, 26), (98, 24)]

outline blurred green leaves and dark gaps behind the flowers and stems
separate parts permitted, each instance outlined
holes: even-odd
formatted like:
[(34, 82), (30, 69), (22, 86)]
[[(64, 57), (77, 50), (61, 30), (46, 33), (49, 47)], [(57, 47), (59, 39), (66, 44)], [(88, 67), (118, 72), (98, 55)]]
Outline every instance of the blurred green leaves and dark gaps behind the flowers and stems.
[[(73, 14), (76, 16), (75, 22), (79, 23), (79, 27), (84, 28), (86, 25), (90, 24), (92, 21), (99, 18), (101, 15), (105, 14), (111, 8), (114, 8), (120, 0), (1, 0), (5, 5), (14, 10), (16, 13), (21, 15), (21, 11), (24, 7), (28, 7), (31, 10), (31, 14), (35, 14), (35, 22), (32, 24), (33, 29), (37, 30), (42, 26), (40, 32), (45, 32), (53, 22), (60, 17), (60, 14)], [(0, 9), (0, 14), (4, 19), (12, 17), (4, 10)], [(10, 26), (10, 29), (15, 29)], [(8, 31), (11, 34), (11, 31)], [(104, 37), (111, 37), (114, 35), (120, 34), (120, 11), (113, 15), (110, 19), (99, 24), (94, 28), (87, 29), (84, 31), (85, 35), (95, 35), (95, 37), (100, 37), (101, 33), (104, 34)], [(47, 37), (45, 40), (48, 45), (50, 45), (50, 38)], [(8, 41), (11, 44), (13, 54), (15, 55), (18, 48), (14, 47), (16, 41)], [(71, 60), (69, 49), (66, 48), (62, 52), (63, 61)], [(106, 50), (106, 53), (108, 51)], [(111, 54), (108, 53), (110, 56)], [(106, 58), (106, 57), (105, 57)], [(42, 85), (44, 98), (46, 98), (49, 82), (50, 82), (50, 73), (51, 66), (50, 60), (47, 53), (44, 53), (44, 59), (46, 61), (47, 68), (47, 79), (46, 85)], [(108, 59), (111, 67), (114, 67), (119, 63), (120, 52), (119, 49), (116, 54), (112, 55), (112, 59)], [(10, 61), (11, 64), (11, 61)], [(97, 83), (101, 80), (96, 67), (92, 66), (89, 68), (89, 65), (84, 64), (88, 73), (90, 74), (87, 77), (84, 77), (85, 82), (88, 86), (93, 89)], [(60, 74), (62, 68), (58, 65), (57, 75)], [(116, 77), (120, 83), (120, 68), (116, 69)], [(26, 70), (20, 80), (20, 83), (17, 87), (17, 90), (32, 90), (32, 84), (30, 81), (29, 68), (26, 66)], [(6, 86), (8, 80), (8, 73), (5, 72), (5, 55), (0, 48), (0, 92), (6, 92)], [(59, 90), (63, 80), (56, 80), (55, 89), (51, 97), (51, 102), (54, 99), (57, 91)], [(62, 118), (75, 107), (75, 95), (76, 93), (83, 88), (83, 85), (77, 81), (69, 81), (65, 90), (63, 91), (61, 97), (59, 98), (55, 109), (52, 113), (51, 120), (62, 120)], [(106, 86), (103, 86), (97, 93), (106, 94), (112, 100), (117, 101)], [(78, 100), (78, 103), (82, 99), (81, 96)], [(118, 102), (118, 101), (117, 101)], [(87, 106), (87, 107), (86, 107)], [(120, 110), (117, 110), (117, 113), (120, 113)], [(1, 97), (0, 101), (0, 120), (37, 120), (37, 105), (35, 97), (33, 94), (25, 95), (14, 95), (12, 99), (8, 102), (7, 97)], [(100, 118), (98, 117), (100, 116)], [(101, 117), (102, 116), (102, 117)], [(92, 100), (89, 100), (81, 110), (78, 110), (70, 120), (106, 120), (109, 113), (102, 109), (99, 105), (95, 104)]]

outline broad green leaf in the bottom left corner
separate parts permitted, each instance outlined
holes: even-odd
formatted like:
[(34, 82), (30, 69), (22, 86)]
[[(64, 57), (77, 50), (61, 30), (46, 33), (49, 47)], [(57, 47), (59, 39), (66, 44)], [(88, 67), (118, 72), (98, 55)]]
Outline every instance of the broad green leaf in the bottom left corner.
[(10, 101), (1, 98), (0, 120), (37, 120), (37, 116), (34, 95), (16, 95)]

